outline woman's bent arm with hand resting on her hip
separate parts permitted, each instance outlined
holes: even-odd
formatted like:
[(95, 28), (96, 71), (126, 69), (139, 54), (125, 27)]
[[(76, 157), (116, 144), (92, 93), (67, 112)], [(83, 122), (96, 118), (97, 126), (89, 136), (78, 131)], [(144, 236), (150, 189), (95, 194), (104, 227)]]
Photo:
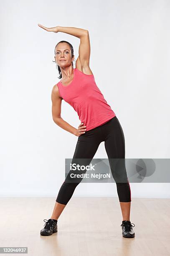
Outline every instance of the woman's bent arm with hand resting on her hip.
[(76, 136), (80, 136), (86, 131), (86, 128), (83, 126), (83, 123), (79, 125), (78, 129), (76, 129), (73, 126), (71, 126), (69, 123), (64, 121), (63, 118), (61, 118), (62, 98), (59, 95), (59, 90), (57, 85), (53, 86), (53, 89), (51, 92), (51, 101), (52, 101), (52, 116), (53, 116), (54, 123), (56, 123), (58, 126), (63, 128), (64, 130)]

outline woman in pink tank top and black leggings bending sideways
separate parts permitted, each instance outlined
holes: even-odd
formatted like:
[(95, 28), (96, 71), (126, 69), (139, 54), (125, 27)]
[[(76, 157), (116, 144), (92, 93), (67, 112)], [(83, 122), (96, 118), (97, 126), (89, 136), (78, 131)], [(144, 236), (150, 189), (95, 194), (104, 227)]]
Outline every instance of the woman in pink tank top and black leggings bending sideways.
[[(113, 161), (113, 159), (125, 159), (124, 133), (114, 111), (97, 87), (89, 67), (89, 32), (73, 27), (46, 28), (40, 24), (38, 26), (46, 31), (63, 32), (80, 38), (76, 68), (73, 68), (73, 46), (67, 41), (60, 41), (55, 47), (55, 61), (58, 65), (59, 78), (62, 80), (53, 86), (51, 92), (53, 120), (64, 130), (78, 136), (72, 163), (78, 163), (81, 159), (81, 164), (89, 164), (99, 144), (104, 141), (122, 210), (122, 235), (126, 238), (133, 238), (133, 223), (130, 222), (131, 191), (125, 164), (120, 164), (118, 168), (116, 167), (118, 166), (117, 162), (115, 164)], [(78, 129), (61, 118), (61, 101), (63, 99), (78, 113), (81, 120)], [(71, 199), (76, 186), (82, 180), (72, 179), (71, 182), (71, 173), (72, 171), (69, 172), (58, 192), (51, 219), (47, 220), (44, 224), (45, 227), (40, 232), (43, 236), (57, 232), (57, 220)]]

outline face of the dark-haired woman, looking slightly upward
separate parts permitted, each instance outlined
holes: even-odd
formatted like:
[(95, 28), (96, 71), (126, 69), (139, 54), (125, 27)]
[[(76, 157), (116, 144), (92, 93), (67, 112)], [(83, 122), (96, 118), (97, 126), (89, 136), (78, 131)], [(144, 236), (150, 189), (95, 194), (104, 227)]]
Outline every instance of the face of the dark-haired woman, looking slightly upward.
[(60, 43), (56, 47), (56, 63), (59, 67), (68, 67), (71, 65), (71, 62), (74, 59), (71, 59), (71, 49), (70, 46), (66, 43)]

